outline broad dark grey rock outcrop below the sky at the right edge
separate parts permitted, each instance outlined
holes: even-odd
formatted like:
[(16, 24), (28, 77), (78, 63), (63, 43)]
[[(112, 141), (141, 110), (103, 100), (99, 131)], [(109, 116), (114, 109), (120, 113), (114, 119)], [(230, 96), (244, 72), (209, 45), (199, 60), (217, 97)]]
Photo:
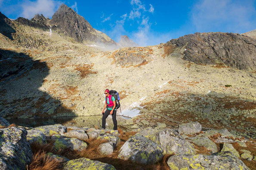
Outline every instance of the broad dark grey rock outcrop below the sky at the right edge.
[(236, 33), (195, 33), (172, 39), (184, 47), (184, 60), (204, 65), (222, 65), (256, 70), (256, 39)]

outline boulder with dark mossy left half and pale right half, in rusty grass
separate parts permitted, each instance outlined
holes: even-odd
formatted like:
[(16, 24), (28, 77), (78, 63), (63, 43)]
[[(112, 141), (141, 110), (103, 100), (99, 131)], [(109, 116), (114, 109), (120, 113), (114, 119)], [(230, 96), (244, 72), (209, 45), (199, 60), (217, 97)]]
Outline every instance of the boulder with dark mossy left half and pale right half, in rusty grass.
[(71, 149), (72, 151), (83, 151), (87, 148), (87, 144), (83, 142), (82, 140), (79, 140), (77, 138), (62, 138), (62, 139), (56, 139), (54, 145), (55, 150), (60, 149)]

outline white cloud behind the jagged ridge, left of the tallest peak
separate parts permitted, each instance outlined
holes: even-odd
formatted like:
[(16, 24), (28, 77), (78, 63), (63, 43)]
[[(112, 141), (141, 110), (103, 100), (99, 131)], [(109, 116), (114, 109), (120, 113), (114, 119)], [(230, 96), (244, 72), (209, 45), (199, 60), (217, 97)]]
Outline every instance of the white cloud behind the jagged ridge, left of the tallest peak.
[(62, 2), (56, 0), (26, 0), (21, 4), (21, 16), (33, 18), (35, 14), (43, 14), (45, 17), (52, 17)]

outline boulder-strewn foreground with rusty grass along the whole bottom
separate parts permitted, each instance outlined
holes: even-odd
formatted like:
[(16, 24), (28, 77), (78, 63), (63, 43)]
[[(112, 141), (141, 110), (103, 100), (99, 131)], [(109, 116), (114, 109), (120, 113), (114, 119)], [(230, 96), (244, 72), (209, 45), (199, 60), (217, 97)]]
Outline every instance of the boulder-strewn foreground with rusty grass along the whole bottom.
[(205, 131), (198, 122), (181, 124), (178, 129), (159, 125), (123, 132), (61, 124), (16, 127), (0, 117), (0, 134), (3, 170), (47, 166), (49, 170), (256, 167), (253, 140), (231, 134), (227, 129)]

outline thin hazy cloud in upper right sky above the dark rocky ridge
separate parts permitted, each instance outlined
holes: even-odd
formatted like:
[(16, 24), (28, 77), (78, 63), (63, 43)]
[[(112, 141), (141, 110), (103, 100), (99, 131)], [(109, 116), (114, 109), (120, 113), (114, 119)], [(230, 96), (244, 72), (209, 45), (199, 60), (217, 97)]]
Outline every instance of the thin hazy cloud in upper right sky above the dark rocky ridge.
[(241, 33), (256, 27), (253, 0), (200, 0), (192, 9), (192, 24), (198, 32)]

